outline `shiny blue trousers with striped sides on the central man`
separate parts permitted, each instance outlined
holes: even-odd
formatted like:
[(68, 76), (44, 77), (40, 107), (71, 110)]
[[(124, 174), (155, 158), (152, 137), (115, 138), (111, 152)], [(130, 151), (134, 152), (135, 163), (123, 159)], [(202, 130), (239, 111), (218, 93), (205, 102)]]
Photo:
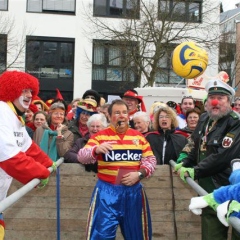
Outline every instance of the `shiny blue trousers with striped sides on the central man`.
[(113, 185), (98, 180), (92, 194), (88, 240), (113, 240), (118, 225), (126, 240), (151, 240), (149, 205), (141, 183)]

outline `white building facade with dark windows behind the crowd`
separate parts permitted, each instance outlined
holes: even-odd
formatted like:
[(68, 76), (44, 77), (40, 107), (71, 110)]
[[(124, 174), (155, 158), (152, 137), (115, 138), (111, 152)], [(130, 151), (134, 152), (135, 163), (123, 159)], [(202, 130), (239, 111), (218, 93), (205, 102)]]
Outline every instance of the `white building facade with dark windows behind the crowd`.
[[(151, 31), (142, 28), (144, 4), (155, 4), (149, 11), (157, 16)], [(173, 47), (201, 39), (209, 46), (218, 34), (218, 19), (214, 0), (0, 0), (0, 70), (36, 76), (43, 100), (53, 98), (56, 88), (71, 101), (90, 88), (107, 99), (150, 80), (154, 86), (174, 86), (181, 79), (171, 69)], [(133, 25), (140, 29), (137, 34)], [(163, 35), (156, 42), (151, 40), (155, 33)], [(209, 47), (212, 76), (218, 71), (217, 55), (218, 48)]]

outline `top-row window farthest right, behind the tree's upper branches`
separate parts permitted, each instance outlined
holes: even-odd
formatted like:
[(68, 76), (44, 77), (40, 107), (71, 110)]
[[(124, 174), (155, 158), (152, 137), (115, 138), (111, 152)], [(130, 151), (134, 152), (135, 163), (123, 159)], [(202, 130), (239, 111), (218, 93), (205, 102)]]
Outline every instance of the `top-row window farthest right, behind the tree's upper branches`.
[(202, 1), (159, 0), (159, 19), (162, 17), (178, 22), (201, 22)]

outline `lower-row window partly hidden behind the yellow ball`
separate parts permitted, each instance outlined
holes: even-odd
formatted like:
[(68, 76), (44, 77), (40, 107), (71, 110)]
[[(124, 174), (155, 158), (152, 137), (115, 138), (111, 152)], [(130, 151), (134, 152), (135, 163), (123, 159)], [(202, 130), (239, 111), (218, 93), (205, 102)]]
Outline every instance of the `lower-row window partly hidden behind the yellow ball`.
[(171, 66), (171, 54), (174, 47), (163, 53), (163, 57), (158, 62), (158, 72), (155, 76), (155, 83), (158, 86), (164, 84), (177, 84), (181, 81), (181, 77), (176, 75)]

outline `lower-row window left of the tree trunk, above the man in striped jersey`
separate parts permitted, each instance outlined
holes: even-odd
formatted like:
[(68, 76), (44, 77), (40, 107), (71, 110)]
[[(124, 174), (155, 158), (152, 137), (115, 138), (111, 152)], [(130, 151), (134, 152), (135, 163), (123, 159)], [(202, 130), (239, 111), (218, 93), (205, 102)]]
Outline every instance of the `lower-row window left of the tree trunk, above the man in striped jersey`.
[(136, 53), (137, 44), (135, 42), (94, 40), (92, 80), (137, 81), (136, 67), (131, 61), (131, 56)]

